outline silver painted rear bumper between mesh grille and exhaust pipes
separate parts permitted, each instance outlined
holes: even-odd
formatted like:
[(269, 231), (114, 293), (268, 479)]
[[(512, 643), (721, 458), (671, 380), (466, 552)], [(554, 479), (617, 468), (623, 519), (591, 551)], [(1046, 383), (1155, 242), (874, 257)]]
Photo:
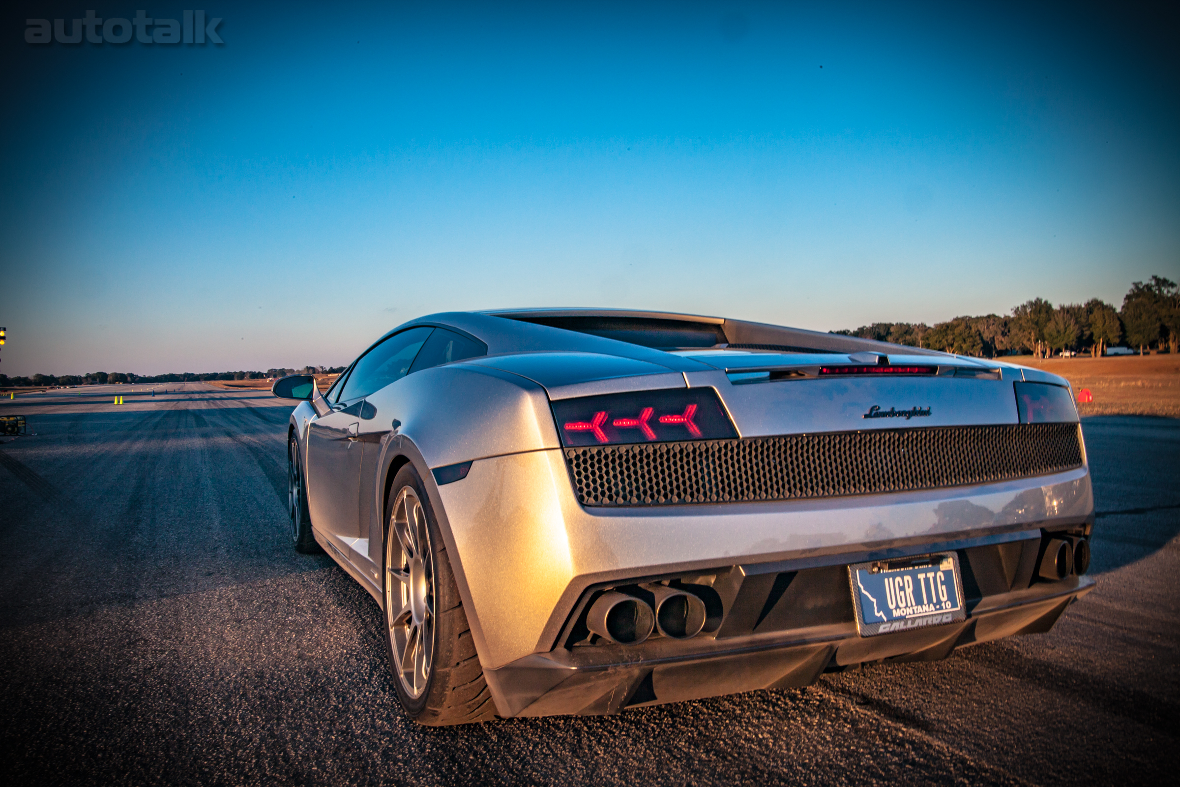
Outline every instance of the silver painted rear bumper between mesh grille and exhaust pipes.
[(1084, 466), (916, 492), (591, 509), (579, 505), (560, 450), (480, 459), (431, 492), (489, 671), (552, 651), (579, 599), (603, 583), (719, 566), (847, 565), (1012, 540), (1093, 522), (1094, 512)]

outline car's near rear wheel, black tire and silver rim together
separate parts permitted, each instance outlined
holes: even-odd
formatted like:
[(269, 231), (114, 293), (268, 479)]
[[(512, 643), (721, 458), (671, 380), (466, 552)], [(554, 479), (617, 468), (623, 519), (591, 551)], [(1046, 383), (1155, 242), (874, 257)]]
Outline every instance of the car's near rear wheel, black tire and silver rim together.
[[(413, 511), (421, 512), (420, 519), (415, 513), (407, 514), (413, 503), (418, 504)], [(402, 707), (411, 719), (432, 727), (494, 719), (496, 703), (479, 665), (446, 545), (426, 487), (412, 465), (404, 466), (393, 479), (385, 522), (382, 619), (386, 652)], [(407, 536), (413, 530), (418, 536)], [(417, 601), (405, 601), (412, 586), (425, 590), (415, 591)], [(420, 650), (412, 649), (415, 642)]]

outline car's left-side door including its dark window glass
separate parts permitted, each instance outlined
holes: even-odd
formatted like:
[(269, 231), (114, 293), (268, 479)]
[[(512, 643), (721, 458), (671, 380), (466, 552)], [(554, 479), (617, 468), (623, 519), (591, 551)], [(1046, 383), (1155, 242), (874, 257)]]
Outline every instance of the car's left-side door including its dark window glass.
[(336, 538), (361, 537), (360, 425), (362, 415), (369, 415), (365, 396), (405, 376), (432, 330), (409, 328), (371, 347), (353, 363), (340, 392), (332, 392), (332, 412), (309, 421), (308, 507), (319, 530)]

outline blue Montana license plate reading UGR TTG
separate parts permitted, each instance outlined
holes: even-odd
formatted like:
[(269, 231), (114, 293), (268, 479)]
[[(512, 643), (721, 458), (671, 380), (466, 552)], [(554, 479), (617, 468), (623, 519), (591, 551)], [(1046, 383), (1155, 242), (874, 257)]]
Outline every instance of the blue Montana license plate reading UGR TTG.
[(857, 563), (848, 575), (863, 637), (966, 619), (955, 552)]

